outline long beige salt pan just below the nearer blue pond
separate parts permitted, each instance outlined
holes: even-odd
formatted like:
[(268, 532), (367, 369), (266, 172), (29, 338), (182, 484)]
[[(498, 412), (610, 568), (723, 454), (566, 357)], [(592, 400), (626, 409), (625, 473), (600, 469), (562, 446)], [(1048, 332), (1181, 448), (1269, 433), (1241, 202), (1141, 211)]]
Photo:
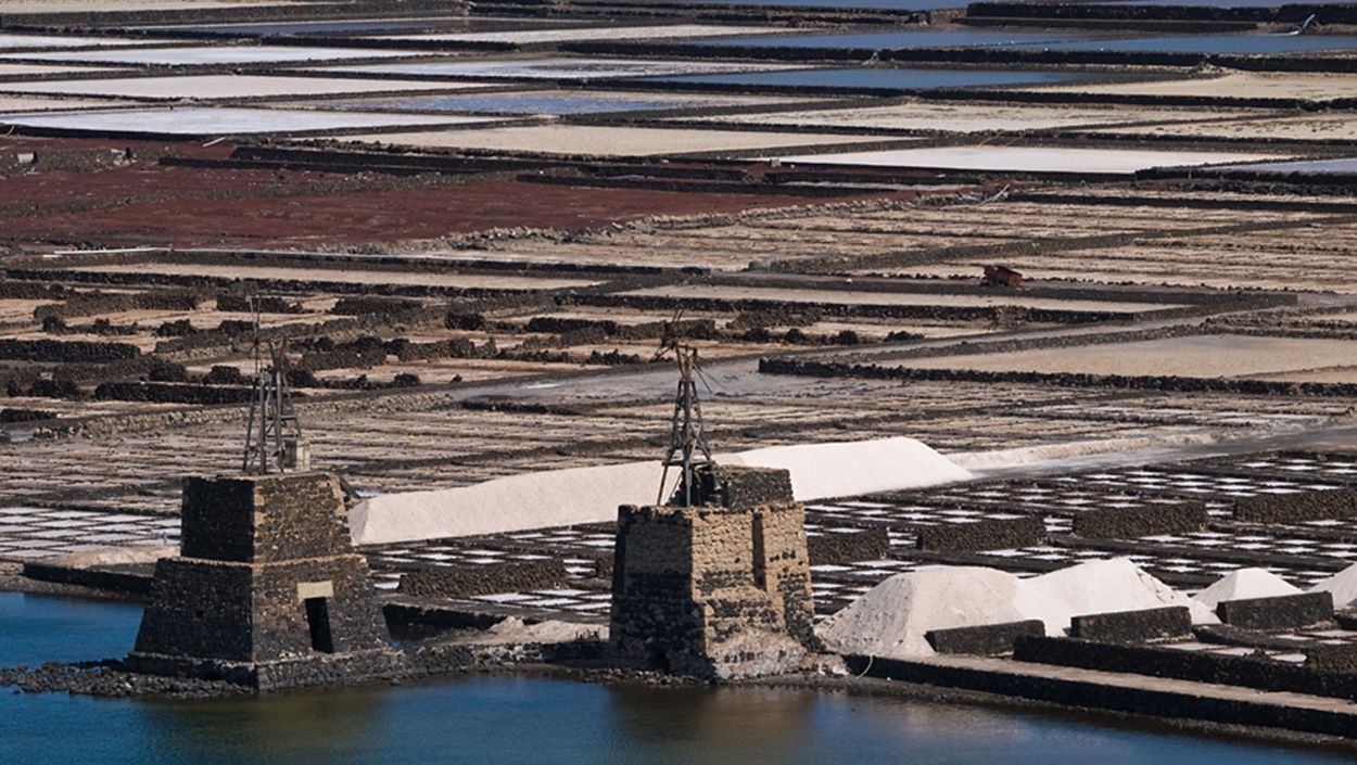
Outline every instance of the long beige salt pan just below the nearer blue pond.
[(1082, 107), (1044, 104), (985, 104), (906, 102), (862, 109), (817, 109), (767, 114), (708, 115), (688, 119), (722, 125), (805, 125), (811, 128), (871, 128), (878, 130), (939, 130), (987, 133), (991, 130), (1045, 130), (1132, 122), (1182, 122), (1247, 113), (1144, 107)]

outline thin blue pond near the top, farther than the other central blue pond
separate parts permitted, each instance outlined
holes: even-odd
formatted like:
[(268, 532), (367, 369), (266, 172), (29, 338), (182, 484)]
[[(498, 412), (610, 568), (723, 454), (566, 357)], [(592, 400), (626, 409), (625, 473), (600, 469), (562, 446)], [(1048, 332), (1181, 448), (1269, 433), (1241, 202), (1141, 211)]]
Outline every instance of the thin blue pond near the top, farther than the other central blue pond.
[(908, 50), (920, 47), (991, 47), (1088, 39), (1088, 35), (1011, 33), (989, 30), (921, 30), (856, 34), (797, 34), (692, 41), (692, 45), (733, 47), (844, 47), (854, 50)]

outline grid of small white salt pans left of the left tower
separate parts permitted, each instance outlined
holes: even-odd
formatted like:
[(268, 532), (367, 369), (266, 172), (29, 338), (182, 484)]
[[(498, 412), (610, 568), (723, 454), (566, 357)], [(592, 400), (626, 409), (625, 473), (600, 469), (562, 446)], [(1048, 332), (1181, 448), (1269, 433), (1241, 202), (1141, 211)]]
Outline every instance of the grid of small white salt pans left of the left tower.
[(0, 507), (0, 559), (43, 560), (109, 547), (176, 545), (179, 519), (130, 513)]

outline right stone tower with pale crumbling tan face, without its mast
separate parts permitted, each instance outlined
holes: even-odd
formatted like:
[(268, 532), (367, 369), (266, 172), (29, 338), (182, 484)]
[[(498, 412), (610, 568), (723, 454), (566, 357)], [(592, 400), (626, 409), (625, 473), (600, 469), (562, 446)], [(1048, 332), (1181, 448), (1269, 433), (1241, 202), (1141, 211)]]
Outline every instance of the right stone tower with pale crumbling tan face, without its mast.
[(611, 643), (623, 665), (735, 678), (816, 647), (806, 513), (787, 471), (704, 465), (684, 505), (617, 510)]

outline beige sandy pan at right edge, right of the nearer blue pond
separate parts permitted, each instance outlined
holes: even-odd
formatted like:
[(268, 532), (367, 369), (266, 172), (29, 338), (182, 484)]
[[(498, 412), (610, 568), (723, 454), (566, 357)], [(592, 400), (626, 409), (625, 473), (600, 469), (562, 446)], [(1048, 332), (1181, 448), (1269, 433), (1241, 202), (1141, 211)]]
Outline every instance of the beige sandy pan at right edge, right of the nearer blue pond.
[(1050, 85), (1023, 90), (1068, 94), (1331, 100), (1357, 98), (1357, 75), (1231, 72), (1217, 77), (1170, 81)]

